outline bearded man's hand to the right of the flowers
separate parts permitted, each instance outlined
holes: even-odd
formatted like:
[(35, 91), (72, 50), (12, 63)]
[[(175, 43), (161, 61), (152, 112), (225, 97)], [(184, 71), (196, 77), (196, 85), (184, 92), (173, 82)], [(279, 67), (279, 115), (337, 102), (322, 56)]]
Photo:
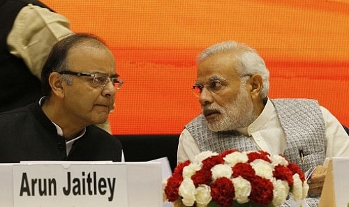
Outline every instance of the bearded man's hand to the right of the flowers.
[(320, 196), (322, 192), (322, 186), (325, 182), (326, 177), (326, 167), (323, 167), (322, 165), (319, 165), (315, 168), (313, 174), (308, 180), (309, 184), (309, 191), (308, 194), (311, 196), (317, 195)]

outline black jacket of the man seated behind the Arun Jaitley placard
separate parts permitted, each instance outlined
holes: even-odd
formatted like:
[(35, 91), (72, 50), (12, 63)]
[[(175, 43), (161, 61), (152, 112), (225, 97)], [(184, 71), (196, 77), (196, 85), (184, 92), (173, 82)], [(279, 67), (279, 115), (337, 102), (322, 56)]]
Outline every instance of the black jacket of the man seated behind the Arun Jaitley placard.
[(66, 140), (33, 103), (0, 114), (0, 162), (24, 160), (121, 161), (121, 142), (95, 125), (75, 141), (66, 155)]

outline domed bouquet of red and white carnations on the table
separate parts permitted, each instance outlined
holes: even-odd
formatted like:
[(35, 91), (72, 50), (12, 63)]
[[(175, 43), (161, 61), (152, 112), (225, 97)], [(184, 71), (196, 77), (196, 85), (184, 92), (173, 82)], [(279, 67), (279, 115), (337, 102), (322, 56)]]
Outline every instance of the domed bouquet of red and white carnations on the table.
[(280, 206), (291, 193), (308, 194), (300, 167), (265, 151), (205, 151), (177, 165), (163, 181), (164, 200), (174, 206)]

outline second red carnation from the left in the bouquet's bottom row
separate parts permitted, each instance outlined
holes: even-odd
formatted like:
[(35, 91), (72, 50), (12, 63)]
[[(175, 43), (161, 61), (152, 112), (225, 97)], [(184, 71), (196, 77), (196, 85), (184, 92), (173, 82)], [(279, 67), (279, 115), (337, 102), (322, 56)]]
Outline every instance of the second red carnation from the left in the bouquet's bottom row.
[(211, 184), (212, 201), (224, 207), (232, 206), (232, 199), (235, 197), (234, 185), (229, 178), (217, 178)]

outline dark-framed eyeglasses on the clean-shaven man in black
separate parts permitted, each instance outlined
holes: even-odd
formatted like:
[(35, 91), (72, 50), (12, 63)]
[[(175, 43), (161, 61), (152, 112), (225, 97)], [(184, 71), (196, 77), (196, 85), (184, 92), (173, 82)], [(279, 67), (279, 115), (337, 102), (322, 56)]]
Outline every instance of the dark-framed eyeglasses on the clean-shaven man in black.
[(82, 76), (87, 76), (87, 77), (93, 77), (94, 78), (94, 84), (98, 85), (98, 86), (105, 86), (107, 85), (108, 82), (112, 82), (112, 85), (115, 87), (115, 89), (119, 90), (122, 86), (122, 84), (124, 84), (124, 81), (121, 79), (117, 79), (117, 77), (109, 77), (103, 73), (87, 73), (87, 72), (73, 72), (73, 71), (69, 71), (69, 70), (64, 70), (61, 72), (58, 72), (61, 75), (76, 75), (78, 77), (82, 77)]

